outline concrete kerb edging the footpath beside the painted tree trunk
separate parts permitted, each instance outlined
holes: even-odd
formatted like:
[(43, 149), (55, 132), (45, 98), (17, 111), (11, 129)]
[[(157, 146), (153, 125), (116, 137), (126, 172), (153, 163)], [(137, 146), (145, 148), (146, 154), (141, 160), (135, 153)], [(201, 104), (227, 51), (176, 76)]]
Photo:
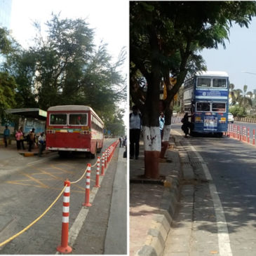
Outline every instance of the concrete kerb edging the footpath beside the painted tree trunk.
[[(171, 144), (174, 148), (174, 143)], [(177, 166), (175, 166), (178, 170), (175, 175), (166, 176), (159, 213), (154, 215), (154, 220), (151, 222), (146, 242), (142, 248), (137, 251), (136, 256), (160, 256), (163, 254), (166, 238), (170, 231), (177, 201), (180, 196), (180, 180), (182, 172), (179, 153), (180, 152), (178, 151), (179, 159), (176, 159)]]

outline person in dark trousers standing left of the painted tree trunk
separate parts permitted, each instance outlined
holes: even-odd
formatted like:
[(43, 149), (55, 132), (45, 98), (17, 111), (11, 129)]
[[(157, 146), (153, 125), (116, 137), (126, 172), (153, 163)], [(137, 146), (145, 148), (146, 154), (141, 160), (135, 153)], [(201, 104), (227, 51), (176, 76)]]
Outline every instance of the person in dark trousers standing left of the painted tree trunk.
[(137, 106), (133, 106), (133, 113), (130, 114), (130, 159), (139, 158), (140, 150), (140, 129), (142, 117)]

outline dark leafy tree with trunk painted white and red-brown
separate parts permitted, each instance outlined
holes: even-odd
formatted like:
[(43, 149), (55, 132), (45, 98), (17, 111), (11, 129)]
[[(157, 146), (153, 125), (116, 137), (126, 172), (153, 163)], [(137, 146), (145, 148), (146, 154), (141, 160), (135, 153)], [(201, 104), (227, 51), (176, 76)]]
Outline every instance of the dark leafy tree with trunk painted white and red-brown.
[[(225, 46), (235, 21), (248, 24), (256, 13), (255, 2), (242, 1), (133, 1), (130, 2), (130, 94), (142, 112), (145, 147), (144, 175), (159, 178), (159, 86), (167, 85), (163, 110), (166, 116), (163, 142), (170, 135), (170, 102), (188, 74), (206, 69), (198, 52)], [(143, 98), (137, 83), (139, 72), (147, 81)], [(170, 74), (176, 77), (170, 85)]]

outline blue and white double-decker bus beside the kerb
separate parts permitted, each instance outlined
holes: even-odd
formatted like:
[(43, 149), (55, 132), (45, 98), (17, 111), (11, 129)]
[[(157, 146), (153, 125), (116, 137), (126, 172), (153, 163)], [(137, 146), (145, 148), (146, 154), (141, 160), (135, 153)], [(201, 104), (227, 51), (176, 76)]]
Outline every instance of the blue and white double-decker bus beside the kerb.
[(190, 134), (227, 131), (229, 76), (227, 72), (197, 72), (184, 81), (184, 112), (191, 114)]

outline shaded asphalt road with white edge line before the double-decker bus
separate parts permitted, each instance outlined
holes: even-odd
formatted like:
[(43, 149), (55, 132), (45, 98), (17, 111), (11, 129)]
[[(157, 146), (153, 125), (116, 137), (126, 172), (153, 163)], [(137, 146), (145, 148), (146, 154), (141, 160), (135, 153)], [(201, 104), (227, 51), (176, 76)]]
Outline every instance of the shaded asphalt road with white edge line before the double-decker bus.
[(254, 256), (256, 147), (225, 136), (189, 137), (182, 145), (184, 168), (190, 164), (196, 177), (189, 256)]

